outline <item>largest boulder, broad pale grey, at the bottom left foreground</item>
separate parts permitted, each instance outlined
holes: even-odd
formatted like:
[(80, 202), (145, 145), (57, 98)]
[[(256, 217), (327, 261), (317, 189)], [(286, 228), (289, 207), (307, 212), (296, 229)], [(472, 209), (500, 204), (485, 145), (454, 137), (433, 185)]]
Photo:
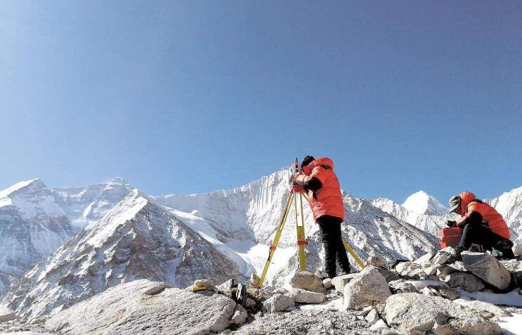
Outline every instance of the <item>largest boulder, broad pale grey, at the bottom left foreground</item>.
[[(50, 317), (47, 331), (68, 334), (210, 334), (228, 327), (236, 303), (213, 291), (145, 292), (157, 282), (119, 284)], [(152, 290), (154, 291), (154, 290)]]

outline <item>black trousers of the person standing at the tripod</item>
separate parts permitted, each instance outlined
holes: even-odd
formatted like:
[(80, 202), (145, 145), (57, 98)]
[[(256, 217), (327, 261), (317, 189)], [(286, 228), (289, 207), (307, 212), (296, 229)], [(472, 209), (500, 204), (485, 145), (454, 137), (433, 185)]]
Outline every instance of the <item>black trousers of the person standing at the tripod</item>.
[(337, 275), (336, 261), (343, 271), (350, 272), (350, 263), (341, 236), (341, 222), (341, 218), (328, 215), (317, 219), (322, 244), (325, 246), (325, 272), (330, 278)]

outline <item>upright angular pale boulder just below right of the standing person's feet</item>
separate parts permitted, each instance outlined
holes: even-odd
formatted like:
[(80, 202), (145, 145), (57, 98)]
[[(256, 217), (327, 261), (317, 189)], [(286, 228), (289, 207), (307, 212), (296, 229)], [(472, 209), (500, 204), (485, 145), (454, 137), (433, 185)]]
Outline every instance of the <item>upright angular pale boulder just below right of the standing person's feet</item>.
[(375, 303), (384, 303), (391, 291), (377, 268), (368, 266), (344, 287), (345, 309), (360, 309)]

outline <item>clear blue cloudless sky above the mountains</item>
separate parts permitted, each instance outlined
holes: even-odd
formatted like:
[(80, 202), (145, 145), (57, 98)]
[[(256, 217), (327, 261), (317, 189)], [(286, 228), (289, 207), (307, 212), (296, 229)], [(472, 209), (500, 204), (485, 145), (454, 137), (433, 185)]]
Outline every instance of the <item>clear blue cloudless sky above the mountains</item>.
[(358, 197), (522, 185), (520, 1), (0, 2), (0, 188), (233, 188), (334, 159)]

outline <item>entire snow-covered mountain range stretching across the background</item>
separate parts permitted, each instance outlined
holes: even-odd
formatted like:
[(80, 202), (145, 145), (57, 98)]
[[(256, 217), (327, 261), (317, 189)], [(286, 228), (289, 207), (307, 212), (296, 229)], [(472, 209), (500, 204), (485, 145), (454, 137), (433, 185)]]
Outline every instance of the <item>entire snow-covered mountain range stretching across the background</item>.
[[(232, 190), (164, 196), (143, 195), (122, 178), (81, 188), (48, 189), (38, 179), (15, 184), (0, 192), (3, 303), (41, 315), (139, 278), (186, 287), (202, 277), (259, 273), (288, 178), (282, 169)], [(343, 235), (363, 258), (412, 259), (437, 249), (437, 232), (451, 217), (424, 191), (402, 205), (346, 192), (343, 199)], [(522, 188), (485, 201), (504, 215), (514, 237), (522, 235)], [(308, 268), (316, 270), (324, 253), (305, 208)], [(285, 285), (298, 267), (294, 222), (291, 211), (267, 284)]]

